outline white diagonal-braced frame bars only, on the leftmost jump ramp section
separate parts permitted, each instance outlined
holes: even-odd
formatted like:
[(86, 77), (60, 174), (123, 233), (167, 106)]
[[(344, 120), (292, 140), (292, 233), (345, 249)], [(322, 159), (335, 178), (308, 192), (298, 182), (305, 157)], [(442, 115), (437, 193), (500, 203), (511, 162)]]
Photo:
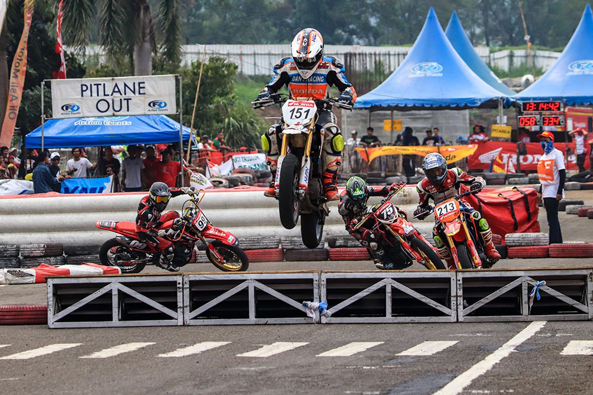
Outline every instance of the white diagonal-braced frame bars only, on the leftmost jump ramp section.
[[(155, 300), (146, 297), (127, 287), (126, 284), (141, 284), (142, 282), (174, 282), (176, 284), (177, 311), (168, 309)], [(59, 284), (105, 284), (94, 293), (82, 298), (62, 311), (55, 311), (53, 290)], [(183, 281), (180, 275), (123, 275), (123, 276), (74, 276), (74, 277), (49, 277), (47, 278), (47, 325), (50, 328), (68, 327), (122, 327), (122, 326), (177, 326), (183, 325)], [(142, 303), (148, 304), (170, 316), (164, 320), (121, 320), (119, 291), (131, 296)], [(111, 293), (111, 321), (98, 322), (59, 322), (60, 319), (95, 300), (103, 294)]]

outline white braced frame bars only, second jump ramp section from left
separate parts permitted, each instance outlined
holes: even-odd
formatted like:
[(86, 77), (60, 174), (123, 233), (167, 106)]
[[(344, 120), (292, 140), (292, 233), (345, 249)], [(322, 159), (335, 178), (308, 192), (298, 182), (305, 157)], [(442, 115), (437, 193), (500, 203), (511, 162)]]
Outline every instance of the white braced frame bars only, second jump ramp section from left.
[[(268, 287), (258, 280), (310, 280), (311, 281), (311, 294), (306, 301), (318, 301), (319, 296), (319, 272), (275, 272), (275, 273), (254, 273), (254, 274), (188, 274), (183, 276), (183, 289), (184, 289), (184, 323), (185, 325), (242, 325), (242, 324), (291, 324), (291, 323), (317, 323), (319, 322), (319, 313), (314, 311), (314, 318), (308, 317), (305, 313), (305, 307), (302, 306), (302, 300), (294, 300), (289, 298), (285, 294)], [(212, 299), (211, 301), (203, 304), (195, 309), (190, 309), (190, 282), (208, 282), (208, 281), (220, 281), (220, 280), (243, 280), (240, 284), (231, 288), (222, 295)], [(212, 307), (227, 300), (234, 294), (246, 289), (248, 290), (248, 307), (249, 317), (247, 319), (199, 319), (196, 316), (208, 311)], [(263, 291), (270, 296), (275, 297), (279, 301), (282, 301), (289, 306), (294, 307), (297, 310), (302, 311), (302, 317), (282, 317), (282, 318), (259, 318), (257, 317), (256, 311), (256, 288)]]

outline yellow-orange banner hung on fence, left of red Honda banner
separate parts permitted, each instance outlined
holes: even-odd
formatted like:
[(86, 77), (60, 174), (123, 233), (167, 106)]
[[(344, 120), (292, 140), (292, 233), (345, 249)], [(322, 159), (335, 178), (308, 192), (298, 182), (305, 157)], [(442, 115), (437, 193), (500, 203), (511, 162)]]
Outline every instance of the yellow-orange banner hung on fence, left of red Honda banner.
[(451, 146), (387, 146), (375, 148), (356, 148), (356, 151), (366, 162), (383, 155), (420, 155), (426, 156), (431, 152), (438, 152), (447, 159), (447, 163), (467, 158), (476, 152), (477, 144), (451, 145)]

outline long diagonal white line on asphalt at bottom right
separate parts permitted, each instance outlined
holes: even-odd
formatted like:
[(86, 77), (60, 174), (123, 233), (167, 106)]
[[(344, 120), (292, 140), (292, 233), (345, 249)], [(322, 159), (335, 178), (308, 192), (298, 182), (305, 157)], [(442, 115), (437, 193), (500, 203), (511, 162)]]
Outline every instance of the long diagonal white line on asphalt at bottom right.
[(544, 325), (546, 325), (546, 321), (534, 321), (530, 323), (521, 332), (517, 333), (514, 338), (504, 343), (495, 352), (473, 365), (473, 367), (455, 377), (446, 386), (436, 391), (434, 395), (457, 395), (469, 386), (472, 381), (476, 380), (476, 378), (492, 369), (503, 358), (508, 357), (511, 352), (515, 351), (515, 347), (535, 335)]

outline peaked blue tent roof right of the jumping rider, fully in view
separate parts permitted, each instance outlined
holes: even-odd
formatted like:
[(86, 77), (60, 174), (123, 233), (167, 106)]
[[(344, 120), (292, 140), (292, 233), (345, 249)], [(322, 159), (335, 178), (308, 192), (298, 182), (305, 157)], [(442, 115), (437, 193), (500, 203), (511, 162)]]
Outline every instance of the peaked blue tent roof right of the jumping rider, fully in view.
[(507, 95), (486, 84), (449, 43), (431, 7), (416, 42), (401, 65), (355, 108), (378, 110), (464, 110), (496, 108)]

